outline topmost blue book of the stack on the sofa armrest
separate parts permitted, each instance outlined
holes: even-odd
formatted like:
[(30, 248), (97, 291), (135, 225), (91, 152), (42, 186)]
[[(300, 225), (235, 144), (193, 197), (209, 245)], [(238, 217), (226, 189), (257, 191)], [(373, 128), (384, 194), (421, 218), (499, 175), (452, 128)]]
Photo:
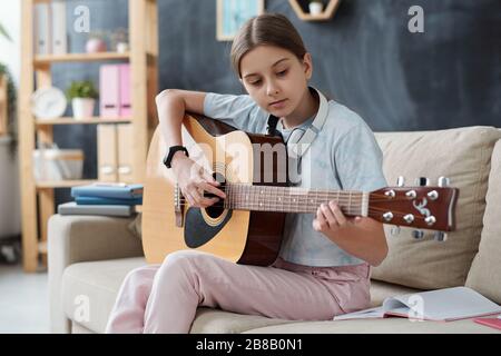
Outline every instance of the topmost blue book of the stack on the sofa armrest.
[(71, 197), (131, 199), (143, 197), (143, 185), (94, 184), (71, 188)]

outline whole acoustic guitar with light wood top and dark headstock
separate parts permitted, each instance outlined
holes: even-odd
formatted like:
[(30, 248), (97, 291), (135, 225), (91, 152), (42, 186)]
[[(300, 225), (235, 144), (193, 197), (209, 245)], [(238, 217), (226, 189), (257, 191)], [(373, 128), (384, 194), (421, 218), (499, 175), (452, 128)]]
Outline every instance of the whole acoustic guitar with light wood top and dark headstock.
[(346, 216), (435, 231), (454, 229), (456, 188), (305, 190), (288, 184), (281, 137), (244, 132), (197, 115), (186, 115), (183, 144), (193, 160), (213, 172), (226, 199), (208, 208), (189, 206), (163, 164), (167, 147), (157, 128), (148, 152), (143, 204), (143, 244), (151, 264), (176, 250), (197, 249), (238, 264), (268, 266), (278, 255), (286, 214), (315, 214), (330, 200), (336, 200)]

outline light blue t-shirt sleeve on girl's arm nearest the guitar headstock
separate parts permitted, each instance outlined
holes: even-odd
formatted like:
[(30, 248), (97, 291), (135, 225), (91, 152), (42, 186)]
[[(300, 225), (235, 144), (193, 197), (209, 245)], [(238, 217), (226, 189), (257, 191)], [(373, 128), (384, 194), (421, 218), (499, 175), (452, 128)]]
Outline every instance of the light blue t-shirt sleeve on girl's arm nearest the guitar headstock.
[(374, 191), (387, 186), (383, 152), (369, 126), (353, 127), (335, 147), (334, 159), (343, 190)]

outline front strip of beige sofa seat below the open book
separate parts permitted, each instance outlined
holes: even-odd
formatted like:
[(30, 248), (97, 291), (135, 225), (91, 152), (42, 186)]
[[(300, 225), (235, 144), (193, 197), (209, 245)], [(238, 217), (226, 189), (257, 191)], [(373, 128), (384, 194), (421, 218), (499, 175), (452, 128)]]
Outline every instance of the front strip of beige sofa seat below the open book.
[(473, 319), (418, 322), (406, 318), (293, 323), (255, 328), (244, 334), (501, 334)]

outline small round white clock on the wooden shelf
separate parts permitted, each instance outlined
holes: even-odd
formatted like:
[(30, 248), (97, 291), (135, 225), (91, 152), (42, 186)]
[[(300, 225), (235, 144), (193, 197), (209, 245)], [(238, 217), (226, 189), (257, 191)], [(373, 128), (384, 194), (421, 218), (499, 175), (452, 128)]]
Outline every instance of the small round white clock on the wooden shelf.
[(65, 113), (67, 105), (65, 93), (55, 87), (43, 87), (31, 95), (31, 111), (37, 118), (59, 118)]

